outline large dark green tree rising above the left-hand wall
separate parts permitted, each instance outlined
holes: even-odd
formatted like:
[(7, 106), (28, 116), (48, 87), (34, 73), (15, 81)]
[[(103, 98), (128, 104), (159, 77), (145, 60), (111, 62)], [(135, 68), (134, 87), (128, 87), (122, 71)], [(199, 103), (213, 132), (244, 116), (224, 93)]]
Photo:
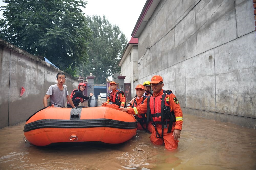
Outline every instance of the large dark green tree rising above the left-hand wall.
[(4, 0), (0, 37), (31, 54), (46, 57), (75, 75), (88, 61), (91, 30), (82, 0)]

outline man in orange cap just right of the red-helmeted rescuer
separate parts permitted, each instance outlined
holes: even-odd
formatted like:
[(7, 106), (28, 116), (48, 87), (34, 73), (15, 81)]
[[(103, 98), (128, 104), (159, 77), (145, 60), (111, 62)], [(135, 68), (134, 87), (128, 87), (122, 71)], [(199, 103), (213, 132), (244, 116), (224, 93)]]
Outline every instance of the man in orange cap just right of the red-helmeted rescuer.
[(123, 91), (117, 89), (117, 85), (114, 81), (109, 83), (110, 89), (112, 90), (107, 96), (107, 102), (101, 104), (104, 106), (106, 104), (112, 104), (113, 107), (120, 108), (125, 106), (125, 94)]

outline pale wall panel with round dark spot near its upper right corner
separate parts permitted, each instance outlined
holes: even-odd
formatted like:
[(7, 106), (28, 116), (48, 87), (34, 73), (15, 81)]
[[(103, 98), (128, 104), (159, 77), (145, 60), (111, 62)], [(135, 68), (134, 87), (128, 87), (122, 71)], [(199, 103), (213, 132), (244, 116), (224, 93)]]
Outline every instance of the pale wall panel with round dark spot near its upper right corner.
[(186, 107), (215, 111), (214, 51), (186, 60)]

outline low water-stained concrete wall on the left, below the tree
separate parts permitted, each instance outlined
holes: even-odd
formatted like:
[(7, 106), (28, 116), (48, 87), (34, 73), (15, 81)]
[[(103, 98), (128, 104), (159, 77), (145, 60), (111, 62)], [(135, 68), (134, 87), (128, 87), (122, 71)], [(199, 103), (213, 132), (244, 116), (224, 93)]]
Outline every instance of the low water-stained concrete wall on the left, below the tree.
[[(43, 97), (61, 70), (0, 39), (0, 128), (25, 121), (44, 107)], [(78, 80), (66, 74), (68, 92)], [(25, 92), (20, 96), (21, 87)], [(49, 100), (50, 101), (50, 100)]]

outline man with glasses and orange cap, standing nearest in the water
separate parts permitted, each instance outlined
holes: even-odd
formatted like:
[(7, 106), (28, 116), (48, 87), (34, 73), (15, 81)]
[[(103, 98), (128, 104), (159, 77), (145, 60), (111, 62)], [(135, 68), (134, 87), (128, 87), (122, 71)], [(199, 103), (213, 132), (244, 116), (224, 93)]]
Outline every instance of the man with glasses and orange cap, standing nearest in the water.
[(149, 95), (143, 104), (134, 108), (120, 108), (120, 110), (134, 115), (147, 112), (147, 122), (152, 117), (153, 125), (150, 141), (157, 145), (164, 143), (168, 150), (176, 149), (183, 123), (179, 102), (172, 91), (162, 89), (164, 83), (161, 76), (153, 76), (150, 84), (153, 94)]

